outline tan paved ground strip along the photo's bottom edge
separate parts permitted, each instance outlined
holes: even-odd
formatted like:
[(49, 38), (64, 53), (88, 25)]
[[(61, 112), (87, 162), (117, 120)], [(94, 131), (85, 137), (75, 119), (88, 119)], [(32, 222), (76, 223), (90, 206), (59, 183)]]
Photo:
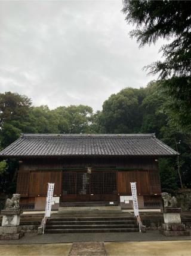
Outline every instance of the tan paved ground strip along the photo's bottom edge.
[(1, 256), (190, 256), (191, 241), (57, 243), (1, 245)]

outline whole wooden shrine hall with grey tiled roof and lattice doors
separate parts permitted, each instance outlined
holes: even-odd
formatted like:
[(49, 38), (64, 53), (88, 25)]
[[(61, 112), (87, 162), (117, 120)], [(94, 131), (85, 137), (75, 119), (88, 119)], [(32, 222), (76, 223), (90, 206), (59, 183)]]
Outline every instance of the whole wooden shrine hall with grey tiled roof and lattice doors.
[(155, 134), (21, 134), (0, 157), (19, 160), (23, 209), (45, 209), (48, 182), (55, 183), (52, 209), (132, 208), (130, 182), (137, 182), (139, 207), (152, 209), (161, 206), (158, 158), (177, 154)]

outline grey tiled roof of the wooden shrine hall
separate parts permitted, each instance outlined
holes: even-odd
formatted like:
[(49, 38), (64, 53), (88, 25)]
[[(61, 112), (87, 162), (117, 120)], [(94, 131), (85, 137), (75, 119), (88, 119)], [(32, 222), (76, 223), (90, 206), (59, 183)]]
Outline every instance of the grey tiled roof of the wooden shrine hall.
[(155, 134), (21, 134), (4, 157), (177, 155)]

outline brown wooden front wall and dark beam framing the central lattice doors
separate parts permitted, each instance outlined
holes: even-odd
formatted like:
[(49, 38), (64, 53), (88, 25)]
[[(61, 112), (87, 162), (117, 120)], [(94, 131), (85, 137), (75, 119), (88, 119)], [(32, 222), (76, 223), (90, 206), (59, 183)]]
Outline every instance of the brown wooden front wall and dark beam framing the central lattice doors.
[[(161, 192), (158, 166), (155, 158), (66, 158), (66, 159), (23, 159), (17, 179), (17, 192), (21, 197), (45, 197), (47, 183), (54, 182), (54, 194), (61, 194), (62, 168), (84, 168), (91, 165), (96, 169), (117, 171), (118, 193), (131, 194), (130, 182), (137, 182), (140, 195)], [(101, 170), (100, 170), (101, 171)]]

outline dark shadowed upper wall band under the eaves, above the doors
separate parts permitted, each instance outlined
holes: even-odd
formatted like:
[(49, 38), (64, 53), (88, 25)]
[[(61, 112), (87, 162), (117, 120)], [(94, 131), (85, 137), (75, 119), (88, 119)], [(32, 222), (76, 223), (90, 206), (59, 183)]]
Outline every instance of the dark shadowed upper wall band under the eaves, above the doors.
[(56, 168), (77, 168), (91, 165), (95, 168), (111, 167), (111, 168), (130, 168), (135, 170), (158, 170), (155, 158), (150, 157), (76, 157), (76, 158), (36, 158), (23, 159), (20, 164), (20, 171), (54, 169)]

